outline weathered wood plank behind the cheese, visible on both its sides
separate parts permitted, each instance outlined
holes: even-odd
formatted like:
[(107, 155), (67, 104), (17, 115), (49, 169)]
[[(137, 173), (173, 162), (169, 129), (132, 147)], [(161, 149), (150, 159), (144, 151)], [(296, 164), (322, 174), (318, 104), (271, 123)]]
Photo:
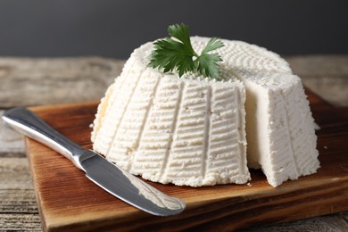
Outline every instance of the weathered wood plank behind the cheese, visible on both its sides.
[[(348, 105), (348, 55), (290, 56), (303, 83), (327, 101)], [(100, 57), (0, 58), (0, 108), (99, 100), (125, 61)]]

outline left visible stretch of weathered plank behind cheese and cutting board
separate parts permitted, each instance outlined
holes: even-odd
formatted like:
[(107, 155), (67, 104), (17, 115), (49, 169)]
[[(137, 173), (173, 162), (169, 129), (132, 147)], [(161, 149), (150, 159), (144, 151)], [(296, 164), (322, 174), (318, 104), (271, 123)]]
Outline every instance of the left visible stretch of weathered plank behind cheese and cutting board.
[(0, 108), (98, 100), (123, 64), (99, 57), (0, 58)]

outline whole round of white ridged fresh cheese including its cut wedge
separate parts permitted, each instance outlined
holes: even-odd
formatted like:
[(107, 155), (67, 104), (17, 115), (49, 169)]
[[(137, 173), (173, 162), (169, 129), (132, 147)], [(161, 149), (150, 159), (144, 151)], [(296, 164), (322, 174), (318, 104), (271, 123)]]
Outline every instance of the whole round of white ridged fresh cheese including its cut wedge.
[[(191, 37), (198, 54), (208, 41)], [(220, 81), (163, 74), (147, 66), (153, 43), (137, 48), (98, 106), (94, 150), (132, 174), (178, 186), (244, 184), (247, 164), (271, 186), (316, 172), (301, 80), (278, 54), (222, 42)]]

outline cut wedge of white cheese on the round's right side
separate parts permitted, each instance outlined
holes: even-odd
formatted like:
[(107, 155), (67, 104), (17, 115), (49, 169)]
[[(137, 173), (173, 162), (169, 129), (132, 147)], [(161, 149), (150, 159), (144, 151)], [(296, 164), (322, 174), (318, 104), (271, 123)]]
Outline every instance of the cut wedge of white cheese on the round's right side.
[(246, 87), (248, 166), (271, 186), (319, 168), (317, 137), (301, 79), (285, 73), (238, 72)]

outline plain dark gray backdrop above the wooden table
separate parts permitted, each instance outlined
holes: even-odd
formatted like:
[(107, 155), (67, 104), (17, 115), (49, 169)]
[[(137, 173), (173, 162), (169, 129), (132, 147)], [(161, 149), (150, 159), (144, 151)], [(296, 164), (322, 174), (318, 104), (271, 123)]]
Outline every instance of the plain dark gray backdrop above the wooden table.
[(176, 22), (278, 54), (348, 54), (344, 0), (0, 0), (0, 56), (126, 59)]

